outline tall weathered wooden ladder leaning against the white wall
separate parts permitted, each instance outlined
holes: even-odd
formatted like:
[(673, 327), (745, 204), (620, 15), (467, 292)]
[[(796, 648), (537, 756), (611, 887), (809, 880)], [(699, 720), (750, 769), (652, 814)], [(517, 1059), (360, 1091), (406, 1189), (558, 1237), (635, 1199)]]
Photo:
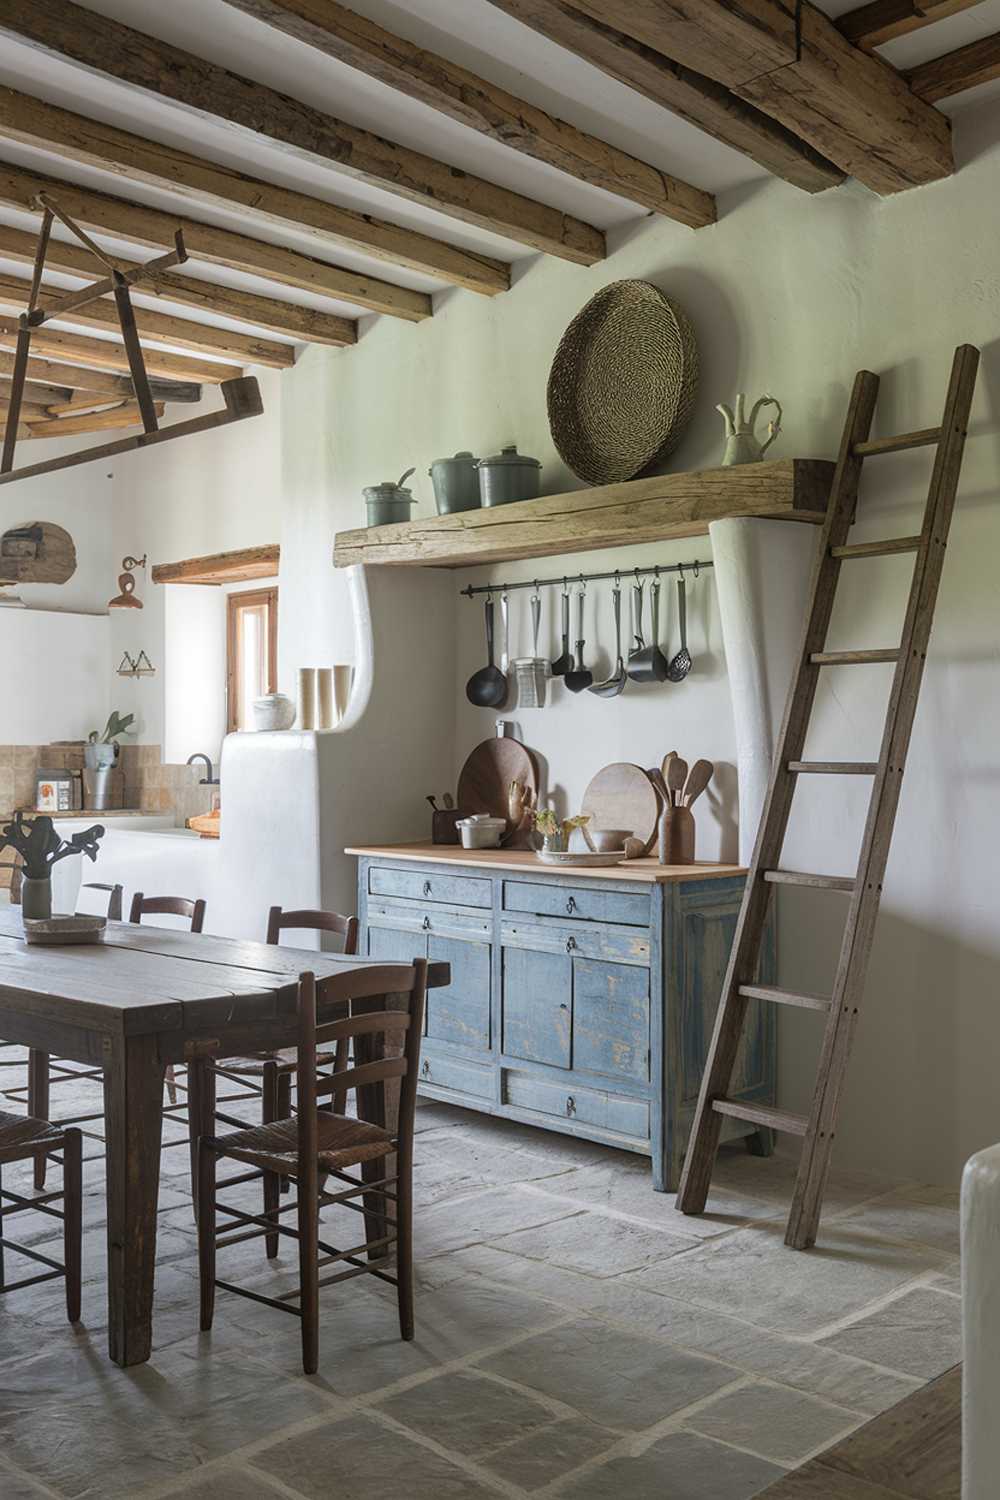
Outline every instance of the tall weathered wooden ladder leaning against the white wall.
[[(771, 784), (747, 876), (747, 890), (681, 1174), (678, 1208), (684, 1214), (702, 1214), (726, 1116), (802, 1136), (802, 1158), (786, 1232), (786, 1244), (795, 1250), (805, 1250), (816, 1244), (847, 1060), (865, 988), (868, 956), (900, 801), (903, 768), (924, 675), (948, 531), (955, 507), (978, 366), (979, 351), (969, 344), (961, 345), (955, 351), (940, 428), (906, 432), (895, 438), (870, 440), (879, 376), (870, 370), (861, 370), (855, 380), (816, 564), (813, 604), (802, 640), (802, 652), (784, 711)], [(858, 484), (864, 460), (918, 447), (937, 450), (921, 534), (849, 544), (847, 534), (858, 507)], [(826, 634), (841, 564), (855, 558), (885, 556), (894, 552), (916, 554), (900, 645), (876, 651), (826, 651)], [(895, 662), (879, 759), (874, 762), (804, 760), (802, 752), (820, 672), (826, 666), (865, 662)], [(861, 856), (852, 878), (804, 874), (781, 868), (781, 849), (795, 786), (799, 776), (810, 774), (873, 777)], [(819, 886), (846, 891), (850, 896), (834, 992), (829, 998), (796, 994), (775, 986), (756, 982), (774, 885)], [(789, 1110), (729, 1096), (750, 1000), (805, 1006), (826, 1014), (826, 1032), (808, 1114), (793, 1114)]]

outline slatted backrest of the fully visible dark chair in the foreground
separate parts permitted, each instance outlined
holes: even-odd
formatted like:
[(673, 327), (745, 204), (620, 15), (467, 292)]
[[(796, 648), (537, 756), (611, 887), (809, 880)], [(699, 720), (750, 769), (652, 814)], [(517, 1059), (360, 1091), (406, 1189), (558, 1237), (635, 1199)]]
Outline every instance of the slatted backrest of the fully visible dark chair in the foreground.
[[(318, 1138), (318, 1101), (331, 1094), (375, 1089), (372, 1108), (358, 1113), (393, 1130), (400, 1150), (411, 1150), (417, 1107), (420, 1036), (424, 1024), (427, 960), (412, 966), (384, 963), (348, 974), (316, 980), (298, 976), (298, 1170), (315, 1174)], [(345, 1011), (330, 1022), (316, 1016)], [(351, 1041), (354, 1066), (334, 1074), (316, 1074), (316, 1047)], [(387, 1106), (385, 1083), (399, 1083), (399, 1110), (393, 1122)], [(369, 1102), (369, 1101), (366, 1101)], [(381, 1116), (381, 1118), (378, 1118)], [(394, 1128), (393, 1128), (394, 1126)], [(300, 1180), (307, 1180), (300, 1176)]]

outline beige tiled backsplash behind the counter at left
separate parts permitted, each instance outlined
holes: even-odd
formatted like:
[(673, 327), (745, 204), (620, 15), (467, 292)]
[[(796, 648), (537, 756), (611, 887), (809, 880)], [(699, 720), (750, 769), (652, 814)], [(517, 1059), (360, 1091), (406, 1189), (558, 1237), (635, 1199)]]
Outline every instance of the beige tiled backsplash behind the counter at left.
[[(34, 777), (46, 770), (79, 771), (84, 747), (79, 744), (0, 746), (0, 820), (6, 822), (16, 808), (34, 806)], [(177, 828), (189, 818), (211, 812), (219, 795), (217, 786), (201, 786), (204, 762), (198, 765), (163, 765), (159, 746), (121, 746), (121, 806), (142, 813), (171, 813)], [(0, 860), (9, 860), (4, 850)], [(10, 884), (10, 870), (0, 868), (0, 888)]]

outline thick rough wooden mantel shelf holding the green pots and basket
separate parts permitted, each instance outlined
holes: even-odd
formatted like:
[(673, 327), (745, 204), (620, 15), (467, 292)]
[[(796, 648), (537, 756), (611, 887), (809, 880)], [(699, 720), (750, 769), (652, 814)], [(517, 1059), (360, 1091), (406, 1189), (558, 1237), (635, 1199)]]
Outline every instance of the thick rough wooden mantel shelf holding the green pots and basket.
[(352, 562), (474, 567), (700, 537), (706, 536), (711, 520), (732, 516), (822, 522), (832, 477), (834, 464), (826, 459), (777, 459), (694, 474), (657, 474), (490, 510), (339, 531), (333, 561), (336, 567)]

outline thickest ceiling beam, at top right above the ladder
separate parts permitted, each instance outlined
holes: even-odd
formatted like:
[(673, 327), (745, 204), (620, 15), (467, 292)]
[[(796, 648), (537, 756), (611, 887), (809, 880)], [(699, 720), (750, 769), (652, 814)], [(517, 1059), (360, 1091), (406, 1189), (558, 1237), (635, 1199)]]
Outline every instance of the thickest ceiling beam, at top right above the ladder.
[(780, 120), (891, 194), (954, 170), (951, 126), (880, 57), (852, 46), (810, 0), (573, 0)]

